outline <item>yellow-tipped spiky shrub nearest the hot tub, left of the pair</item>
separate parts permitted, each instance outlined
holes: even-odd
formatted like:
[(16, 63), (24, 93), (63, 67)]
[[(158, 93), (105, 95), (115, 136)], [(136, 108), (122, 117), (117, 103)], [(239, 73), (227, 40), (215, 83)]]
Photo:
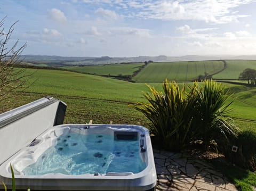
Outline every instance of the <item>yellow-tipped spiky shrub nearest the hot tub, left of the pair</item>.
[(167, 79), (163, 83), (163, 92), (148, 87), (151, 94), (144, 94), (148, 103), (132, 106), (151, 121), (149, 130), (164, 148), (181, 150), (189, 143), (193, 132), (190, 130), (193, 117), (190, 109), (195, 102), (196, 85), (190, 88), (190, 96), (187, 96), (185, 86), (180, 89), (176, 82)]

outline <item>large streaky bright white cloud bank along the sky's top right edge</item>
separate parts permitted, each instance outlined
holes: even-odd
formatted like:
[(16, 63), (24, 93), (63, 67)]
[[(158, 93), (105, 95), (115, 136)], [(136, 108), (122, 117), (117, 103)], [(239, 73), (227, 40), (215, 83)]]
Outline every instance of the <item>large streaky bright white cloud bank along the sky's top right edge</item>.
[(200, 1), (132, 1), (131, 17), (159, 20), (197, 20), (206, 23), (238, 22), (249, 15), (234, 11), (238, 6), (254, 0), (200, 0)]

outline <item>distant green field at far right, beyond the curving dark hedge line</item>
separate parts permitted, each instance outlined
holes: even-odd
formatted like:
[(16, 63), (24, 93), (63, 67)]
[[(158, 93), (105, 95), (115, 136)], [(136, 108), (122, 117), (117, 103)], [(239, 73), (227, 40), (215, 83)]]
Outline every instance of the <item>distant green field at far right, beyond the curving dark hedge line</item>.
[(214, 79), (238, 79), (246, 68), (256, 70), (256, 60), (226, 60), (227, 68), (213, 76)]

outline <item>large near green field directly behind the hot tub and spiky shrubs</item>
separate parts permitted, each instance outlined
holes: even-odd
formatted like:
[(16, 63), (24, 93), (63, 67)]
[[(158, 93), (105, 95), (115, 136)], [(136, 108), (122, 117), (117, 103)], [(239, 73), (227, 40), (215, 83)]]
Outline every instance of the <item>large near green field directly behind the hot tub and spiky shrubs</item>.
[[(28, 73), (35, 69), (27, 69)], [(83, 73), (58, 70), (37, 70), (30, 79), (34, 83), (18, 98), (2, 103), (2, 112), (37, 98), (51, 95), (68, 104), (67, 123), (85, 123), (93, 119), (97, 123), (148, 123), (138, 111), (129, 107), (135, 102), (145, 102), (142, 92), (148, 92), (144, 83), (132, 83)], [(161, 89), (161, 83), (150, 83)], [(189, 85), (189, 84), (188, 84)], [(256, 88), (243, 85), (223, 84), (230, 88), (236, 98), (230, 117), (239, 127), (256, 129)], [(23, 96), (23, 97), (22, 97)], [(28, 98), (33, 97), (33, 98)]]

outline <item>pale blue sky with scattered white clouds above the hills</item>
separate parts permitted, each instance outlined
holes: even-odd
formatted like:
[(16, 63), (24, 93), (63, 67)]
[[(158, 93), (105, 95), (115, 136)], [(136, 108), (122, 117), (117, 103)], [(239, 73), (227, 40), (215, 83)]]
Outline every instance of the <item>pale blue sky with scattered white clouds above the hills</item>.
[(5, 16), (22, 54), (256, 55), (255, 0), (1, 0)]

